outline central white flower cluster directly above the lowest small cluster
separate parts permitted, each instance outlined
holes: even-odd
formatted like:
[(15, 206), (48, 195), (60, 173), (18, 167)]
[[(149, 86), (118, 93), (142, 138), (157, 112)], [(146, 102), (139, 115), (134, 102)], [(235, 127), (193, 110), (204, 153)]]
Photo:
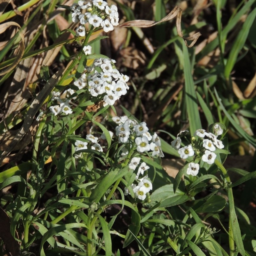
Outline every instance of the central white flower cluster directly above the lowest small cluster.
[(116, 127), (116, 136), (119, 143), (133, 143), (135, 141), (137, 151), (153, 151), (152, 156), (164, 157), (161, 149), (161, 141), (156, 132), (151, 135), (145, 122), (138, 124), (127, 116), (113, 117), (113, 121), (118, 124)]

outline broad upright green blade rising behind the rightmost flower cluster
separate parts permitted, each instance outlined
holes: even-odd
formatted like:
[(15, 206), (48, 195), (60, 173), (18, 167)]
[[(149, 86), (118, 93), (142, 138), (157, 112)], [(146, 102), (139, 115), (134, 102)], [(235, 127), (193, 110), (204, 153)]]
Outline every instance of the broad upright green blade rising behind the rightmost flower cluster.
[(188, 47), (183, 40), (182, 46), (184, 57), (185, 100), (187, 106), (190, 134), (191, 136), (193, 136), (194, 132), (197, 129), (202, 128), (202, 124), (197, 106), (196, 90), (192, 76), (192, 67), (188, 55)]

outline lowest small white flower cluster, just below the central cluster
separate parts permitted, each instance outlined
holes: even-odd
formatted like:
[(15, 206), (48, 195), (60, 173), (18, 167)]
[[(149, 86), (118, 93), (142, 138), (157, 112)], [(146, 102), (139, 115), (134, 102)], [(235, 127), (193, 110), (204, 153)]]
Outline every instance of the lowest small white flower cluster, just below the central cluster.
[[(152, 183), (150, 180), (147, 179), (148, 175), (144, 175), (144, 172), (149, 169), (149, 166), (145, 162), (142, 162), (140, 164), (140, 160), (141, 160), (140, 157), (133, 157), (129, 163), (129, 168), (134, 171), (138, 169), (137, 175), (136, 175), (136, 180), (138, 181), (138, 185), (136, 186), (136, 184), (132, 183), (131, 187), (134, 192), (134, 196), (136, 198), (139, 198), (140, 200), (144, 200), (147, 196), (147, 193), (150, 190), (152, 190)], [(144, 175), (144, 176), (139, 179), (140, 175), (142, 176)], [(129, 189), (125, 188), (124, 195), (128, 195), (128, 194), (130, 194)]]

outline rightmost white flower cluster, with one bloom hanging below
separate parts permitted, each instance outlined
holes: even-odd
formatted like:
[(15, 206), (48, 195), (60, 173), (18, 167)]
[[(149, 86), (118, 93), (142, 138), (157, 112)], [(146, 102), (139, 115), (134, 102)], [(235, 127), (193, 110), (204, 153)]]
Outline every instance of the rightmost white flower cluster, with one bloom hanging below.
[[(174, 149), (178, 150), (180, 157), (183, 159), (187, 159), (188, 156), (197, 156), (202, 159), (202, 161), (206, 162), (207, 164), (213, 164), (216, 158), (216, 154), (213, 152), (216, 148), (222, 149), (224, 145), (221, 140), (218, 140), (218, 135), (221, 135), (223, 132), (220, 124), (214, 125), (214, 134), (211, 132), (206, 132), (203, 129), (198, 129), (194, 133), (194, 136), (198, 136), (196, 140), (195, 137), (192, 137), (191, 144), (180, 148), (181, 145), (181, 138), (182, 136), (186, 135), (188, 131), (182, 131), (177, 135), (177, 138), (171, 142), (171, 145)], [(187, 174), (191, 174), (196, 176), (199, 172), (199, 164), (197, 163), (189, 163)]]

